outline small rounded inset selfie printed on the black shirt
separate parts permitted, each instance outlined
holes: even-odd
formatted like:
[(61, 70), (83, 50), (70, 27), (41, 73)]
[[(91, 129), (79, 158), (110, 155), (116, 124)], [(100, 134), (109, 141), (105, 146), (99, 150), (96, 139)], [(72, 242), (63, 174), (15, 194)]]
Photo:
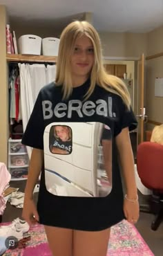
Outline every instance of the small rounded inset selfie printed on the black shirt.
[(49, 133), (49, 148), (53, 154), (71, 154), (72, 129), (67, 125), (52, 125)]

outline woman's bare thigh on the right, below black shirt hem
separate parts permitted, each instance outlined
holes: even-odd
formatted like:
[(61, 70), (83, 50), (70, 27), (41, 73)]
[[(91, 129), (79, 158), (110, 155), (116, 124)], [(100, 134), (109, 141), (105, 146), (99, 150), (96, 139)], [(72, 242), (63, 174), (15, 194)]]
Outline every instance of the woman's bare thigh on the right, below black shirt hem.
[(73, 231), (73, 256), (106, 256), (111, 229)]

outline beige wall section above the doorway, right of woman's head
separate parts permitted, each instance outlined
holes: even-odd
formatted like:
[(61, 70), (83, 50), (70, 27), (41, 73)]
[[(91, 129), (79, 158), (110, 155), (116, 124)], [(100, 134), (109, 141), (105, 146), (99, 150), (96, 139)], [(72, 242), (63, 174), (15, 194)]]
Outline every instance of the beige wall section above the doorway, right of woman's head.
[(104, 56), (140, 57), (146, 54), (146, 34), (99, 32)]

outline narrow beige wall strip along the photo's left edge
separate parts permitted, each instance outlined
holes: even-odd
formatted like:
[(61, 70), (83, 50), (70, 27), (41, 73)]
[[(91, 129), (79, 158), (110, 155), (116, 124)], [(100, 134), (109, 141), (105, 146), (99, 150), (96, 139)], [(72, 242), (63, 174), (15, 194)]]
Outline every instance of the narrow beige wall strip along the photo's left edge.
[(0, 162), (8, 162), (8, 86), (6, 65), (6, 8), (0, 6)]

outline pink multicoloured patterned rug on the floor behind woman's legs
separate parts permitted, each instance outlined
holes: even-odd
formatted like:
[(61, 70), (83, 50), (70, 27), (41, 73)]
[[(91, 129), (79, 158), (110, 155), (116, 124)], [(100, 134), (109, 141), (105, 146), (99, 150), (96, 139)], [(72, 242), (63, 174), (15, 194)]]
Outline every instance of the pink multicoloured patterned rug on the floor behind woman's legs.
[[(3, 223), (6, 225), (7, 223)], [(32, 226), (27, 235), (26, 248), (6, 250), (3, 256), (52, 256), (47, 244), (44, 226)], [(154, 256), (135, 226), (124, 220), (111, 228), (107, 256)]]

